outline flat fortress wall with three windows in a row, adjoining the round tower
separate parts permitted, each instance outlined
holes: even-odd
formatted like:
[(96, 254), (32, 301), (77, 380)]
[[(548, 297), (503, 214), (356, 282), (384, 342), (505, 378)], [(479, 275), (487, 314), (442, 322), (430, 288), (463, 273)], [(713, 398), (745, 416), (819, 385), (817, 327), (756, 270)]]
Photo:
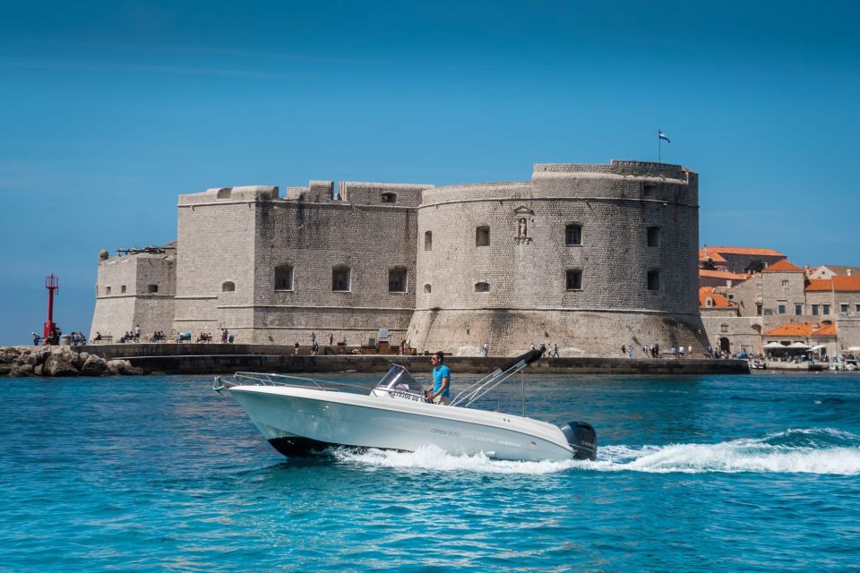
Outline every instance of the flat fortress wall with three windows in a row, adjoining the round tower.
[[(366, 344), (378, 329), (392, 330), (392, 337), (405, 331), (415, 306), (416, 219), (415, 210), (396, 205), (262, 203), (254, 341), (305, 344), (312, 331), (337, 330), (348, 344)], [(281, 265), (293, 269), (292, 290), (275, 289)], [(348, 292), (332, 290), (335, 266), (350, 269)], [(406, 270), (406, 292), (389, 292), (392, 268)]]

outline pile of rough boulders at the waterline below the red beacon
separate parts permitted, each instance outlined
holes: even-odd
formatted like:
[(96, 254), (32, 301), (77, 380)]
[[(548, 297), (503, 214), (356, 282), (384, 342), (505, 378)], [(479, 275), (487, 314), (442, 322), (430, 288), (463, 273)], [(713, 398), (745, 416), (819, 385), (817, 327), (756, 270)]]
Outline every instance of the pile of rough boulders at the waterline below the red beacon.
[(0, 376), (113, 376), (142, 374), (127, 360), (105, 360), (68, 346), (0, 347)]

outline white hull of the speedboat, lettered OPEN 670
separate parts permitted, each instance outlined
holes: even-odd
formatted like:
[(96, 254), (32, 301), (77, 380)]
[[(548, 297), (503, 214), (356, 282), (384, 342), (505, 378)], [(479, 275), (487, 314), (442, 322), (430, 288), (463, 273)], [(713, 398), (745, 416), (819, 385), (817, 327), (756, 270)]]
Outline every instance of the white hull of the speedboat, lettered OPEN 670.
[(287, 456), (330, 446), (415, 451), (432, 444), (452, 454), (483, 452), (498, 459), (574, 457), (559, 428), (521, 416), (293, 387), (238, 386), (230, 392)]

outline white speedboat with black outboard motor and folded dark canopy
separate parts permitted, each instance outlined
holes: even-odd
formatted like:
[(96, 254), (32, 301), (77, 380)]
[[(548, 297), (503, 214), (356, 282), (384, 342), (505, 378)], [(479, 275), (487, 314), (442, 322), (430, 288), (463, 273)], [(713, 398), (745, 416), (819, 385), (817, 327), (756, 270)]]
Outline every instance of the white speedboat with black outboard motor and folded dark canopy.
[(213, 388), (232, 394), (285, 456), (332, 446), (415, 451), (433, 444), (452, 454), (483, 452), (497, 459), (595, 459), (598, 440), (589, 423), (558, 427), (469, 407), (539, 357), (537, 351), (521, 356), (460, 392), (450, 406), (428, 403), (421, 383), (400, 364), (392, 364), (369, 395), (347, 384), (251, 372), (217, 376)]

